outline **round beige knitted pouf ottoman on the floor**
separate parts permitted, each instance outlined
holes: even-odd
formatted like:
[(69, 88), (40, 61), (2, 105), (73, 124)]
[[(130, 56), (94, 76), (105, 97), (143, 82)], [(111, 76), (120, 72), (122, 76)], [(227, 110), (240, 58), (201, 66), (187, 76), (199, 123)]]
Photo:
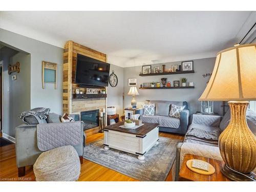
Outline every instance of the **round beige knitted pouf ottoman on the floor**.
[(80, 175), (80, 160), (71, 145), (41, 153), (34, 164), (36, 181), (76, 181)]

